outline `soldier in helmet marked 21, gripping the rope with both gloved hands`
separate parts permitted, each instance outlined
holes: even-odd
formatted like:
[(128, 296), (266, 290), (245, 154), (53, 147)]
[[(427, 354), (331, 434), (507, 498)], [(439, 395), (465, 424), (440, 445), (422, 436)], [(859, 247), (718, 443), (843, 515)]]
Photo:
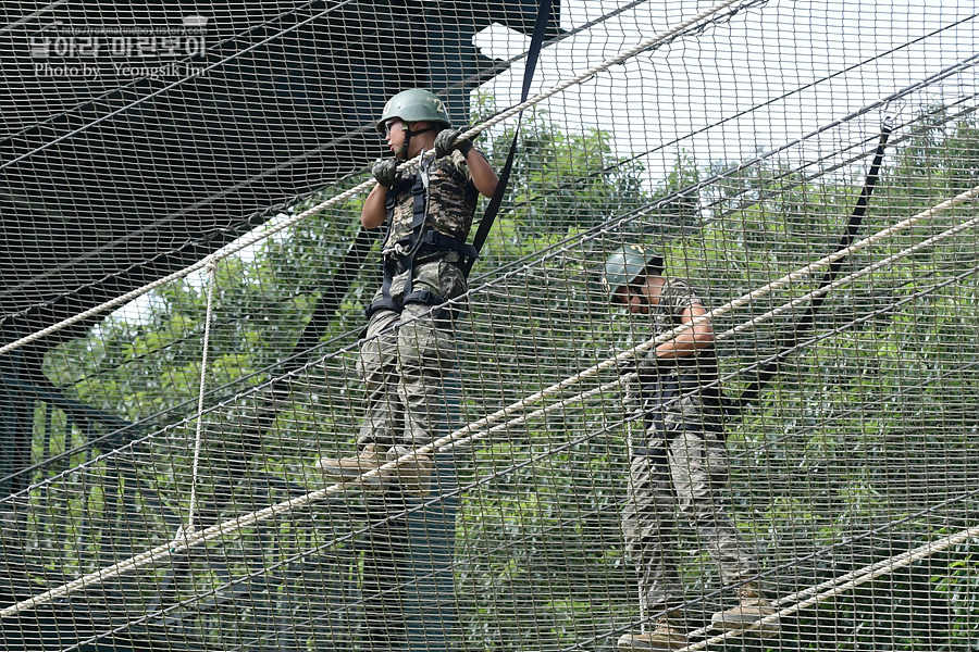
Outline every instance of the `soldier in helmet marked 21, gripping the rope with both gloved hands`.
[[(497, 176), (461, 129), (453, 129), (442, 100), (422, 89), (388, 100), (377, 130), (394, 156), (372, 170), (377, 185), (364, 201), (365, 228), (387, 223), (382, 244), (384, 281), (368, 311), (358, 372), (367, 389), (367, 417), (357, 439), (359, 453), (325, 457), (326, 475), (352, 477), (445, 434), (444, 378), (456, 361), (453, 310), (442, 304), (467, 291), (461, 267), (480, 195), (492, 197)], [(399, 163), (434, 150), (410, 177)], [(425, 496), (433, 460), (416, 454), (396, 478), (373, 478), (379, 488), (397, 479), (408, 493)]]

